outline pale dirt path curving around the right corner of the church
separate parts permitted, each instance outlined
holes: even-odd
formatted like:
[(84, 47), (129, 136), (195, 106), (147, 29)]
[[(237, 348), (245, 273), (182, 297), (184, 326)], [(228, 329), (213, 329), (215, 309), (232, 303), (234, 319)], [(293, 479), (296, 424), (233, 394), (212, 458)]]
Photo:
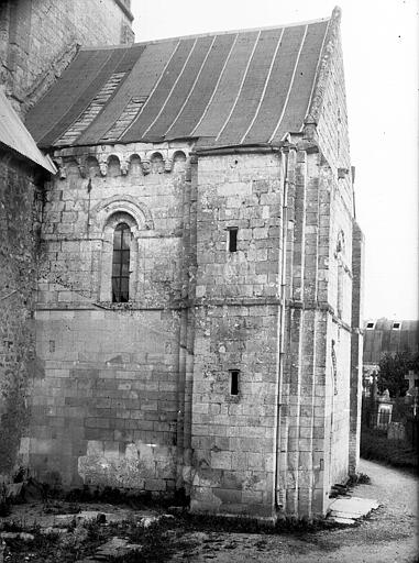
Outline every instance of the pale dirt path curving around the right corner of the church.
[(195, 533), (194, 553), (178, 553), (172, 561), (205, 563), (414, 563), (418, 560), (417, 477), (373, 462), (360, 471), (371, 484), (354, 496), (377, 499), (383, 506), (356, 528), (300, 536)]

